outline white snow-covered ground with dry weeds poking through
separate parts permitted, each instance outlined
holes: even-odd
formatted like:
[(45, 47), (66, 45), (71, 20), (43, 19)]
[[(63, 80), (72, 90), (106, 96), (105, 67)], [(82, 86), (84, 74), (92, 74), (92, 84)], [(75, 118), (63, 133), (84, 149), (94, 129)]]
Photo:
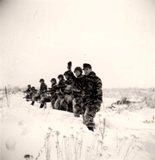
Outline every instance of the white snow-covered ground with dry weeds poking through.
[(91, 132), (81, 117), (22, 97), (10, 95), (0, 107), (1, 160), (155, 160), (155, 109), (143, 103), (112, 110), (116, 99), (105, 97)]

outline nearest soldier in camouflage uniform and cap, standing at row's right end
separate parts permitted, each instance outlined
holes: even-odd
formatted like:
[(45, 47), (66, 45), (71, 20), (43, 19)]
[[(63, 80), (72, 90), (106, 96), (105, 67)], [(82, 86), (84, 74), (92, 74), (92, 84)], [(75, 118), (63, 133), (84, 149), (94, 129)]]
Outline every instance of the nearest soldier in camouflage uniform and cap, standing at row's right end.
[(92, 71), (90, 64), (83, 64), (84, 85), (83, 85), (83, 123), (89, 130), (94, 131), (94, 117), (96, 112), (100, 110), (102, 103), (102, 82), (95, 72)]

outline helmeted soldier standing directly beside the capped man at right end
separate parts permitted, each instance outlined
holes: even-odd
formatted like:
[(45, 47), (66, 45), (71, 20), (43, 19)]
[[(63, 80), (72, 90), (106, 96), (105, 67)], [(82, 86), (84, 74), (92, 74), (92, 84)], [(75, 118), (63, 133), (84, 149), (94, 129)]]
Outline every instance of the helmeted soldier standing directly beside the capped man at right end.
[(76, 75), (76, 79), (74, 81), (73, 86), (73, 95), (74, 95), (74, 116), (80, 117), (80, 114), (82, 113), (82, 84), (83, 84), (83, 75), (82, 75), (82, 68), (76, 67), (74, 69), (74, 73)]

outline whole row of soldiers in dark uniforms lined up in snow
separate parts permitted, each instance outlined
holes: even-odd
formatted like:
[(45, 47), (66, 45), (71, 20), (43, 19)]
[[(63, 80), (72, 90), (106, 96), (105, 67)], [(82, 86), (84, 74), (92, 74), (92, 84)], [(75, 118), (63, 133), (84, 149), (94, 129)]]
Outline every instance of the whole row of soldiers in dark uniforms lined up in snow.
[(32, 100), (31, 105), (39, 101), (40, 108), (51, 102), (53, 109), (73, 112), (75, 117), (82, 115), (83, 123), (94, 131), (94, 117), (102, 103), (102, 81), (88, 63), (83, 64), (83, 69), (76, 67), (74, 73), (71, 68), (72, 62), (68, 62), (67, 71), (57, 77), (58, 82), (52, 78), (49, 89), (44, 79), (40, 79), (39, 91), (28, 85), (26, 98)]

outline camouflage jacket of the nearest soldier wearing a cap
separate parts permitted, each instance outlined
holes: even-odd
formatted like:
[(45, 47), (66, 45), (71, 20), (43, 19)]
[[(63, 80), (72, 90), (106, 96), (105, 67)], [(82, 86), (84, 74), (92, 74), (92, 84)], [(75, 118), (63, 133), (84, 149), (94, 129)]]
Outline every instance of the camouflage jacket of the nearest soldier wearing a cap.
[(95, 72), (85, 75), (83, 81), (84, 102), (102, 103), (102, 81)]

